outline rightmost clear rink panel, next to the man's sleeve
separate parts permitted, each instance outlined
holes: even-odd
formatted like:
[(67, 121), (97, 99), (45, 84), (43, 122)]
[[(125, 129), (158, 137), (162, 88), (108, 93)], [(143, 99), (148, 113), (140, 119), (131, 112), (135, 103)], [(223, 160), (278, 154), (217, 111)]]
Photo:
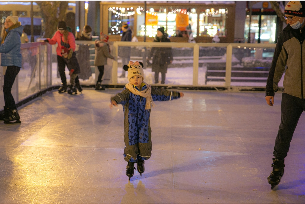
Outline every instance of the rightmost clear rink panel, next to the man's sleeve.
[[(231, 86), (265, 87), (272, 63), (274, 48), (233, 46)], [(279, 87), (283, 86), (283, 77)]]

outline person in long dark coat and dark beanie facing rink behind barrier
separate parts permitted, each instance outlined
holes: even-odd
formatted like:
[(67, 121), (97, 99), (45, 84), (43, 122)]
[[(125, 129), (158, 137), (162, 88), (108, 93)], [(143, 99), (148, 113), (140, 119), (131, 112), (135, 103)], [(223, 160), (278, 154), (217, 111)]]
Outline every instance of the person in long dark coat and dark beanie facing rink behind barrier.
[[(157, 30), (154, 42), (170, 42), (168, 34), (164, 32), (164, 27)], [(173, 52), (171, 48), (152, 48), (147, 60), (152, 58), (152, 71), (155, 72), (155, 84), (159, 83), (159, 72), (161, 72), (161, 84), (165, 83), (167, 67), (173, 62)]]

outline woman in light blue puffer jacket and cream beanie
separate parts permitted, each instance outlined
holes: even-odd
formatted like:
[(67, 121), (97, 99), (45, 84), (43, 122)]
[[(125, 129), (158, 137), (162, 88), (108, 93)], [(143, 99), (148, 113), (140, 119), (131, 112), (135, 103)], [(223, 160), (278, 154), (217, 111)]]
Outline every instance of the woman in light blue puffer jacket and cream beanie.
[[(15, 100), (11, 93), (13, 83), (21, 67), (21, 40), (23, 26), (18, 16), (8, 16), (5, 19), (0, 37), (1, 66), (4, 75), (4, 123), (21, 123)], [(1, 118), (2, 119), (2, 118)]]

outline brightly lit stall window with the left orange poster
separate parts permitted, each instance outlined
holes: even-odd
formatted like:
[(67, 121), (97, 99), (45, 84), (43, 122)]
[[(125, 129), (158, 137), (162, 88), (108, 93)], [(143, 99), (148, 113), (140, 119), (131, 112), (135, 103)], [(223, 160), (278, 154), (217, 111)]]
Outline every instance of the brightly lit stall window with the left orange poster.
[[(145, 22), (142, 7), (136, 9), (137, 12), (137, 35), (144, 36)], [(146, 36), (155, 37), (157, 29), (160, 27), (166, 28), (166, 8), (147, 8), (146, 11)]]

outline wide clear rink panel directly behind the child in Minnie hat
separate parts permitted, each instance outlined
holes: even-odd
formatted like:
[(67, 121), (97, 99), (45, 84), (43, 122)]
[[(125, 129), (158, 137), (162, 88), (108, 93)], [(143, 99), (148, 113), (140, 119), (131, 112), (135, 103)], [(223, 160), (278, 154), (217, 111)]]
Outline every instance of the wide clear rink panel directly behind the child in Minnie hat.
[(118, 84), (128, 83), (127, 72), (124, 74), (123, 66), (127, 65), (129, 60), (144, 64), (144, 81), (148, 84), (193, 83), (193, 48), (118, 46)]

